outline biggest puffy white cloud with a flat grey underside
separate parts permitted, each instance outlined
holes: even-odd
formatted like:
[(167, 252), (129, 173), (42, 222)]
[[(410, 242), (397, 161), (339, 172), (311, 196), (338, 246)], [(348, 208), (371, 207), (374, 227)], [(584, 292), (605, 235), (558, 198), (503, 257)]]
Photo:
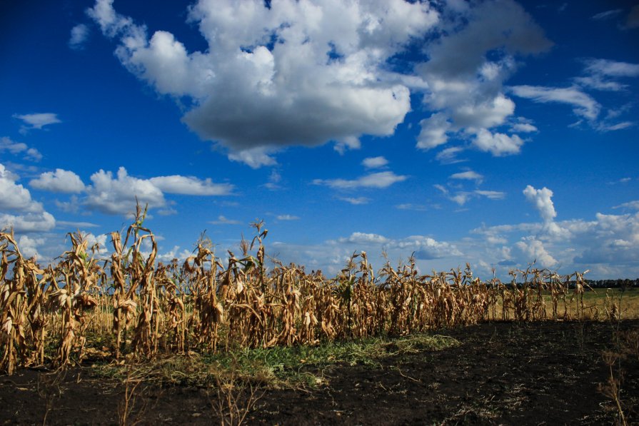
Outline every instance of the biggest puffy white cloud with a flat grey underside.
[(404, 0), (200, 0), (189, 20), (208, 49), (189, 52), (166, 31), (149, 39), (112, 3), (97, 0), (89, 15), (119, 37), (122, 64), (160, 93), (191, 98), (183, 121), (253, 167), (282, 146), (392, 134), (410, 92), (386, 61), (438, 22), (428, 3)]

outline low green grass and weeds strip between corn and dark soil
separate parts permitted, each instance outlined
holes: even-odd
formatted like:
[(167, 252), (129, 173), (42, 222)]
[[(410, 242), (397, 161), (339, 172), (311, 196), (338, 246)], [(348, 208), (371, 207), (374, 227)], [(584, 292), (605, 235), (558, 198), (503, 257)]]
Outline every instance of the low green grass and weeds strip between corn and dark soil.
[(162, 385), (215, 386), (231, 376), (270, 387), (316, 387), (325, 380), (322, 370), (331, 365), (379, 367), (384, 357), (443, 350), (459, 345), (444, 335), (409, 335), (402, 338), (366, 338), (321, 345), (281, 346), (234, 350), (228, 353), (171, 356), (153, 362), (95, 365), (94, 372), (115, 380), (127, 376)]

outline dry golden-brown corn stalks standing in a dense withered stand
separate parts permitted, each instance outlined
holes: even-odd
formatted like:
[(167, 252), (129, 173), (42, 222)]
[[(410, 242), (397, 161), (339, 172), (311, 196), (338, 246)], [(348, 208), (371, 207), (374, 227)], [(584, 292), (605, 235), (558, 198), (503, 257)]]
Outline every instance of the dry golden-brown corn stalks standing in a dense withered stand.
[[(256, 235), (242, 240), (241, 256), (229, 251), (223, 261), (201, 239), (183, 263), (165, 265), (156, 262), (145, 216), (138, 207), (126, 233), (111, 233), (109, 258), (70, 233), (71, 249), (46, 267), (24, 258), (12, 232), (0, 233), (1, 372), (64, 368), (96, 353), (147, 360), (593, 314), (583, 304), (583, 273), (560, 276), (533, 265), (511, 271), (510, 285), (482, 281), (468, 264), (421, 275), (412, 258), (375, 273), (365, 252), (354, 253), (335, 278), (273, 259), (266, 268), (263, 222), (251, 224)], [(575, 298), (577, 310), (569, 312)], [(612, 301), (601, 308), (608, 317), (615, 309)]]

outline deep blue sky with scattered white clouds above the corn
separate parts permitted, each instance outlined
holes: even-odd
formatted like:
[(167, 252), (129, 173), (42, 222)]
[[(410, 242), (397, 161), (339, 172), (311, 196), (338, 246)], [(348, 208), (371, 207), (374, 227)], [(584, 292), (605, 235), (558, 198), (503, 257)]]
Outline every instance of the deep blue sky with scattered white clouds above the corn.
[(533, 260), (639, 276), (633, 1), (9, 0), (0, 6), (0, 228), (47, 262), (111, 249), (135, 198), (162, 260), (333, 275)]

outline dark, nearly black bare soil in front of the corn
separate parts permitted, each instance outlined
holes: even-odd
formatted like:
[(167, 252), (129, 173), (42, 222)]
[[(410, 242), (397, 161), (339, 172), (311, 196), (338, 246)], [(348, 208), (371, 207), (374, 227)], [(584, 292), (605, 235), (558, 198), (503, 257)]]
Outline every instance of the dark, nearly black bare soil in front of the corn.
[[(336, 365), (316, 371), (323, 380), (315, 389), (258, 392), (261, 398), (246, 422), (613, 425), (618, 410), (601, 386), (610, 377), (603, 353), (620, 348), (615, 345), (617, 327), (625, 335), (638, 333), (639, 321), (614, 328), (610, 323), (548, 322), (440, 330), (462, 344), (389, 356), (374, 367)], [(634, 347), (624, 345), (630, 348), (613, 365), (629, 424), (639, 424), (636, 339)], [(66, 375), (20, 370), (0, 377), (0, 424), (41, 425), (46, 414), (51, 425), (116, 425), (124, 410), (123, 390), (116, 382), (92, 377), (90, 368)], [(215, 390), (141, 384), (129, 423), (218, 424), (216, 395)]]

